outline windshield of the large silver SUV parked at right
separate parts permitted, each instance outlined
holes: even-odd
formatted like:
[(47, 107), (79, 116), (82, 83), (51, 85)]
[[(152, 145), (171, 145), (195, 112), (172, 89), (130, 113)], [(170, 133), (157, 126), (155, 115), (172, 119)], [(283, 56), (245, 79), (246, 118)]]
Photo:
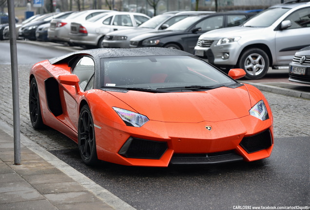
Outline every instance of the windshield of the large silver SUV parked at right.
[(280, 18), (289, 8), (269, 8), (247, 20), (243, 26), (245, 27), (269, 27), (274, 21)]

